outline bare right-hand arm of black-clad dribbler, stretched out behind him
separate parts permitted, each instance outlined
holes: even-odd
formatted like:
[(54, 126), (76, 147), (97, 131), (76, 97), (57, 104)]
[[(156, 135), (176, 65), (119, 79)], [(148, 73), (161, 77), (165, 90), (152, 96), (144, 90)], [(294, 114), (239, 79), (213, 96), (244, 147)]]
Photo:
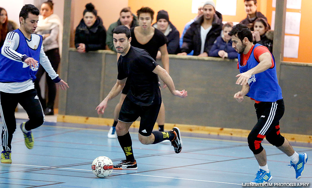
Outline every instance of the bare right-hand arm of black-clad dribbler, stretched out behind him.
[(157, 65), (156, 68), (153, 70), (153, 73), (159, 76), (159, 78), (168, 86), (170, 92), (173, 95), (181, 98), (188, 96), (188, 92), (185, 91), (184, 89), (182, 91), (178, 91), (175, 89), (172, 78), (169, 76), (167, 71), (163, 69), (161, 66)]

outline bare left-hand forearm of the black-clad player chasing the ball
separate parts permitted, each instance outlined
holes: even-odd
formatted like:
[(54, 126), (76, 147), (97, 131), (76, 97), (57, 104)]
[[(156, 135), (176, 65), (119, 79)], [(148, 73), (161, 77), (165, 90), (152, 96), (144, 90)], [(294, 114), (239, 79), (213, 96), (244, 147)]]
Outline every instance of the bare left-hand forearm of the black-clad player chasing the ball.
[(105, 99), (95, 108), (98, 114), (104, 114), (104, 110), (107, 107), (107, 102), (115, 98), (115, 96), (117, 96), (122, 91), (126, 83), (126, 80), (127, 78), (123, 80), (117, 80), (114, 87), (110, 90)]

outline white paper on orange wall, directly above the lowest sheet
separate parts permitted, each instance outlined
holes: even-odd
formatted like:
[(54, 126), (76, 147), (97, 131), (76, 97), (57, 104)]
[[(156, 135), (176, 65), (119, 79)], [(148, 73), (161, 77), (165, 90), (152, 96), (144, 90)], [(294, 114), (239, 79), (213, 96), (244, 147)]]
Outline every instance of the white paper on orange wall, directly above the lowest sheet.
[(300, 19), (300, 12), (286, 12), (285, 33), (299, 35)]

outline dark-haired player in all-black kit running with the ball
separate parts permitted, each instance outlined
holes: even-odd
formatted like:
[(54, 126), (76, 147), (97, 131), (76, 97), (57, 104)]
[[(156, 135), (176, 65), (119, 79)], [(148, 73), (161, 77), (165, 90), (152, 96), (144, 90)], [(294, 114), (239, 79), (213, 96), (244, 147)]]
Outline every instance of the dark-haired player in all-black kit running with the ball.
[(136, 170), (138, 167), (128, 130), (139, 117), (141, 117), (139, 127), (141, 143), (156, 144), (163, 140), (170, 140), (176, 153), (180, 153), (182, 149), (180, 130), (177, 127), (168, 132), (153, 131), (161, 105), (158, 76), (173, 95), (184, 98), (187, 96), (187, 91), (176, 90), (172, 78), (165, 69), (161, 68), (144, 49), (130, 45), (131, 33), (128, 27), (116, 27), (113, 39), (116, 51), (121, 54), (118, 59), (117, 82), (96, 110), (98, 114), (103, 114), (107, 102), (121, 92), (128, 79), (130, 88), (121, 106), (116, 126), (117, 138), (126, 160), (114, 165), (114, 169)]

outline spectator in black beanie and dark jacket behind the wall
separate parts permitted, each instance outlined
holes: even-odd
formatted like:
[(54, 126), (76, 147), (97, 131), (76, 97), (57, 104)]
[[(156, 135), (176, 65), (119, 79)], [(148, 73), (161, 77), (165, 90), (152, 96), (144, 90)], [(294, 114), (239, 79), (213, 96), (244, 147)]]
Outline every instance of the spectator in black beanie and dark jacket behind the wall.
[[(167, 50), (168, 54), (178, 54), (180, 52), (179, 37), (180, 33), (175, 26), (169, 21), (168, 12), (160, 10), (157, 13), (156, 23), (153, 27), (159, 29), (167, 37)], [(156, 59), (161, 57), (161, 53), (158, 50)]]

